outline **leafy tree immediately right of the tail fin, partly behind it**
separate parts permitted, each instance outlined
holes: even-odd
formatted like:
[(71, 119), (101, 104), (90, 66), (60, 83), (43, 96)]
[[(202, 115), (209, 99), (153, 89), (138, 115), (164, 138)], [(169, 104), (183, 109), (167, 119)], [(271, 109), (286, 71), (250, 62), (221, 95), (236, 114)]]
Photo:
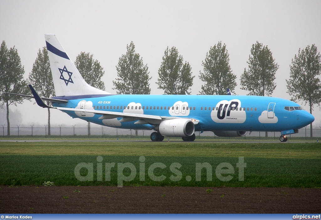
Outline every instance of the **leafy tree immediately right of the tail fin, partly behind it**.
[[(105, 84), (101, 80), (101, 77), (105, 74), (105, 71), (100, 66), (100, 62), (93, 59), (93, 54), (80, 52), (76, 57), (75, 66), (82, 78), (90, 86), (96, 87), (101, 90), (105, 90)], [(88, 137), (90, 136), (90, 122), (88, 122)]]

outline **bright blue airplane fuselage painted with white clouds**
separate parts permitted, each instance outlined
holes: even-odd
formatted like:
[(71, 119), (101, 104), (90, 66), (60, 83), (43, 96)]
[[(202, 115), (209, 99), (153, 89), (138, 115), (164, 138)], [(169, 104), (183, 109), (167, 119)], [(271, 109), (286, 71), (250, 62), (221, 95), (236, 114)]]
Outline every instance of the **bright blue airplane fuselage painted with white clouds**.
[[(68, 100), (55, 107), (84, 108), (199, 120), (195, 131), (285, 131), (299, 129), (314, 117), (289, 100), (267, 96), (239, 95), (84, 95), (53, 97)], [(121, 118), (99, 119), (99, 114), (66, 112), (103, 126), (154, 129), (155, 125), (119, 122)]]

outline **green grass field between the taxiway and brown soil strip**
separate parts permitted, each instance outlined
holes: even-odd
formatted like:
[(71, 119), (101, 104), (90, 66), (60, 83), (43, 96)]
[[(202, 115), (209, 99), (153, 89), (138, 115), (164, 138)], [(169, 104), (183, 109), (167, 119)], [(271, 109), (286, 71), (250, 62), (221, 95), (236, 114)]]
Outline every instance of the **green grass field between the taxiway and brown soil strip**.
[[(134, 186), (313, 188), (321, 187), (320, 152), (320, 143), (0, 142), (0, 185), (50, 181), (54, 185), (116, 186), (122, 182)], [(145, 160), (140, 161), (140, 156)], [(246, 163), (244, 181), (239, 181), (239, 157)], [(92, 171), (79, 169), (83, 177), (92, 174), (92, 181), (76, 178), (79, 163), (92, 166)], [(109, 167), (110, 174), (106, 173), (109, 163), (115, 163)], [(196, 164), (207, 169), (196, 171)], [(152, 175), (151, 167), (156, 167)], [(222, 181), (222, 177), (231, 180)]]

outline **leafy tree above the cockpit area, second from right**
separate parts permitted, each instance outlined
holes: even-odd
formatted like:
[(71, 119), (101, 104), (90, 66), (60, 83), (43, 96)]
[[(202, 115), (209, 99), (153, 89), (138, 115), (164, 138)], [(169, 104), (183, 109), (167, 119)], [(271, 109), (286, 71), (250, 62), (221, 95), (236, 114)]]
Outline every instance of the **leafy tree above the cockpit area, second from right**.
[(245, 68), (241, 76), (241, 89), (250, 91), (248, 95), (270, 96), (276, 87), (275, 72), (279, 65), (267, 45), (263, 46), (256, 41), (247, 64), (248, 70)]

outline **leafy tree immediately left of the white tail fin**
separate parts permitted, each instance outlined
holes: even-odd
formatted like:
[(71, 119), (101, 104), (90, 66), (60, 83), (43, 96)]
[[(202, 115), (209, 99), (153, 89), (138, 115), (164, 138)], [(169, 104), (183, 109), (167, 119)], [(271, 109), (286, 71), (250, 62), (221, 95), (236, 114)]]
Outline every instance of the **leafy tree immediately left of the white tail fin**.
[[(46, 47), (39, 49), (38, 56), (33, 63), (29, 74), (29, 83), (34, 87), (40, 96), (55, 96), (55, 88), (52, 80), (48, 51)], [(50, 101), (46, 101), (51, 105)], [(50, 109), (48, 108), (48, 135), (50, 135)]]

